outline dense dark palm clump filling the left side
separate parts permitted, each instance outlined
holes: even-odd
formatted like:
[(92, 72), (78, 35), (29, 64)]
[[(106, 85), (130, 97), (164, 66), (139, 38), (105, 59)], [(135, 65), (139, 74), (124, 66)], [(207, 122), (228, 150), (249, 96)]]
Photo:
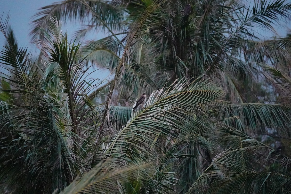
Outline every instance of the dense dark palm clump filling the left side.
[(98, 112), (86, 97), (96, 80), (87, 79), (88, 68), (76, 63), (79, 47), (59, 34), (58, 25), (41, 45), (49, 62), (45, 72), (26, 49), (17, 49), (12, 35), (0, 55), (8, 72), (1, 74), (1, 94), (10, 95), (1, 102), (0, 177), (6, 185), (16, 183), (16, 193), (52, 193), (90, 169), (87, 151)]

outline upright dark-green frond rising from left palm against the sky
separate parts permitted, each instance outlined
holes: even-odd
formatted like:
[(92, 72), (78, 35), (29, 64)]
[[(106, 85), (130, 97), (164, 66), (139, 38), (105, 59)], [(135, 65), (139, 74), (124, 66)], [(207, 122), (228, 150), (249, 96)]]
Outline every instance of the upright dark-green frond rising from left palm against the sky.
[[(55, 21), (51, 22), (57, 24)], [(73, 132), (76, 133), (77, 128), (75, 127), (80, 124), (84, 115), (88, 112), (93, 113), (95, 110), (90, 106), (88, 107), (89, 104), (86, 102), (88, 101), (88, 94), (99, 83), (96, 79), (88, 78), (90, 77), (88, 72), (90, 67), (85, 68), (85, 63), (78, 61), (79, 45), (75, 45), (74, 42), (70, 44), (66, 34), (64, 36), (54, 34), (55, 31), (49, 29), (49, 34), (47, 34), (49, 44), (42, 43), (43, 50), (50, 56), (45, 80), (52, 80), (52, 75), (57, 76), (55, 85), (61, 84), (64, 87), (63, 92), (68, 98), (70, 120), (74, 126)]]

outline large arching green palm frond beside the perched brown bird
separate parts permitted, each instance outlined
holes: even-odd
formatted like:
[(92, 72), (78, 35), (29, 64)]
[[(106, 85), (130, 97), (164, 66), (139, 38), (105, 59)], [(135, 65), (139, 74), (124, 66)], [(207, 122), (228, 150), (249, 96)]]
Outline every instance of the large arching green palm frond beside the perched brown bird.
[[(157, 146), (156, 144), (159, 141), (155, 140), (155, 138), (165, 138), (166, 136), (177, 139), (177, 142), (181, 139), (184, 140), (186, 136), (189, 140), (194, 139), (196, 142), (203, 142), (206, 146), (209, 145), (207, 149), (211, 150), (212, 143), (207, 143), (207, 138), (205, 139), (198, 132), (196, 136), (193, 134), (193, 131), (189, 132), (189, 130), (203, 129), (200, 129), (200, 127), (196, 128), (194, 123), (192, 123), (194, 122), (194, 115), (203, 113), (205, 111), (204, 106), (213, 103), (222, 95), (223, 90), (208, 80), (196, 81), (189, 85), (178, 82), (166, 91), (154, 92), (149, 97), (145, 110), (132, 114), (127, 125), (121, 129), (121, 132), (107, 149), (108, 154), (113, 154), (113, 156), (115, 152), (118, 154), (118, 150), (122, 146), (122, 153), (126, 154), (124, 156), (125, 160), (132, 160), (132, 157), (135, 158), (135, 156), (129, 154), (132, 153), (130, 151), (132, 149), (136, 150), (134, 155), (137, 154), (137, 157), (141, 157), (139, 154), (143, 153), (142, 157), (146, 157), (145, 160), (152, 160), (157, 156), (154, 154), (157, 150), (152, 150), (152, 153), (148, 153), (149, 151), (146, 150), (151, 150), (153, 146)], [(199, 123), (198, 120), (195, 120), (195, 122)], [(177, 136), (178, 134), (181, 137)], [(193, 136), (186, 134), (193, 134)], [(132, 143), (136, 141), (140, 142), (140, 145), (132, 147)], [(172, 144), (167, 139), (165, 141), (168, 142), (166, 144)], [(157, 147), (163, 149), (162, 147), (165, 147), (165, 144)], [(153, 156), (153, 158), (151, 159), (151, 157), (146, 156), (148, 154)]]

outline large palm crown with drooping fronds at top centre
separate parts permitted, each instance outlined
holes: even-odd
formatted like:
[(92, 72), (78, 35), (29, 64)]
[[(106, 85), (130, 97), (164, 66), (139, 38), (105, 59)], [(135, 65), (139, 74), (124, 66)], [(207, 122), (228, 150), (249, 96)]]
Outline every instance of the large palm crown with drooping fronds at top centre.
[(263, 61), (254, 58), (254, 30), (288, 18), (289, 10), (283, 1), (258, 1), (252, 8), (238, 1), (63, 1), (41, 8), (32, 34), (40, 34), (39, 26), (51, 16), (78, 19), (85, 24), (77, 31), (81, 35), (99, 27), (108, 32), (106, 38), (87, 42), (82, 51), (110, 71), (124, 57), (126, 81), (118, 90), (120, 99), (136, 99), (144, 90), (171, 85), (181, 75), (192, 79), (205, 74), (220, 83), (228, 99), (243, 103), (244, 88), (262, 74), (258, 65)]

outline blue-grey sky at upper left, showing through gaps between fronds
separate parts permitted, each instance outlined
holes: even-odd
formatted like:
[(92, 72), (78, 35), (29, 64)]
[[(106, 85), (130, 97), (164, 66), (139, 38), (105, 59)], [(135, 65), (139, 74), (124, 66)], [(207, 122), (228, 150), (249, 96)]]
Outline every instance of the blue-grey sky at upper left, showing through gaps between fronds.
[[(56, 0), (0, 0), (0, 15), (5, 18), (10, 15), (9, 25), (13, 29), (18, 47), (28, 48), (34, 56), (38, 56), (39, 51), (36, 46), (31, 43), (29, 32), (33, 29), (31, 22), (36, 19), (33, 17), (38, 13), (39, 8), (58, 2)], [(63, 31), (68, 32), (69, 39), (73, 37), (74, 30), (81, 27), (77, 24), (62, 25)], [(104, 38), (101, 32), (91, 35), (90, 39)], [(5, 37), (0, 33), (0, 48), (5, 45)], [(93, 71), (93, 69), (92, 69)], [(107, 70), (97, 70), (92, 76), (98, 79), (107, 78), (109, 72)]]

